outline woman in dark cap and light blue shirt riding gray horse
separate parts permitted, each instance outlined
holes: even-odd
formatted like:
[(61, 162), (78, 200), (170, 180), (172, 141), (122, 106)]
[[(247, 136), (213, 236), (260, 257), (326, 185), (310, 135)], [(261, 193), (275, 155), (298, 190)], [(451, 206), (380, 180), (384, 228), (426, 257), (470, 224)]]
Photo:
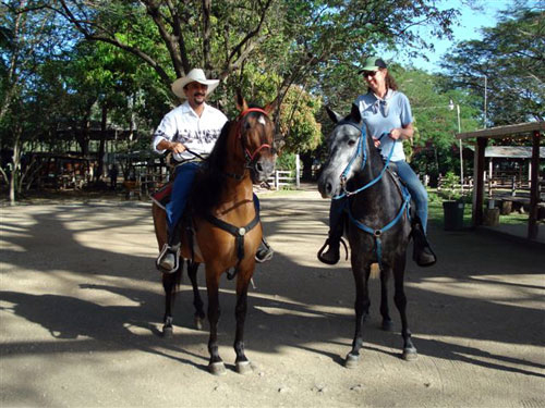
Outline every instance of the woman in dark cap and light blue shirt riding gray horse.
[[(398, 140), (411, 139), (414, 134), (411, 106), (398, 87), (387, 65), (380, 58), (368, 58), (360, 71), (367, 83), (367, 94), (360, 96), (354, 104), (359, 108), (363, 125), (373, 136), (375, 147), (380, 147), (384, 159), (390, 151), (391, 163), (396, 164), (399, 177), (407, 185), (416, 207), (413, 222), (413, 259), (421, 267), (436, 262), (427, 239), (427, 191), (405, 161), (403, 146)], [(341, 200), (332, 200), (329, 213), (329, 237), (318, 252), (318, 259), (328, 264), (339, 261), (340, 240), (343, 233)], [(325, 247), (328, 249), (324, 251)]]

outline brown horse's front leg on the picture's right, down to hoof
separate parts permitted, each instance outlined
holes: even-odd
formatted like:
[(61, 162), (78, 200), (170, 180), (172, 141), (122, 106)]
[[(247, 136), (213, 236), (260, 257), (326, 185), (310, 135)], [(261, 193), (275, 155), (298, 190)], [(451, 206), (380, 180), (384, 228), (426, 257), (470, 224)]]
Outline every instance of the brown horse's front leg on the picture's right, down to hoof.
[(234, 353), (237, 353), (237, 359), (234, 361), (237, 372), (239, 374), (247, 374), (252, 372), (252, 366), (249, 359), (244, 355), (244, 322), (246, 320), (247, 310), (247, 286), (252, 273), (246, 271), (239, 271), (237, 277), (237, 307), (234, 309), (234, 316), (237, 318), (237, 333), (234, 336)]

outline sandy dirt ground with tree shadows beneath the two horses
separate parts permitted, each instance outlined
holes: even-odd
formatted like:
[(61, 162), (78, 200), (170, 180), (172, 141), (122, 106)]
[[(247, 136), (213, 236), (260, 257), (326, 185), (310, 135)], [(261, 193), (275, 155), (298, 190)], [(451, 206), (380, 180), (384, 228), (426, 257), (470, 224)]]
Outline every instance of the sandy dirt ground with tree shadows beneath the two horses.
[[(150, 205), (94, 200), (3, 207), (2, 407), (545, 407), (545, 251), (432, 225), (439, 262), (408, 263), (416, 361), (379, 329), (378, 282), (356, 369), (348, 262), (319, 263), (328, 201), (262, 196), (276, 255), (257, 267), (246, 319), (253, 373), (237, 374), (234, 292), (222, 281), (223, 376), (207, 371), (208, 333), (192, 327), (189, 280), (174, 336), (160, 336)], [(206, 298), (203, 275), (199, 285)], [(391, 301), (399, 330), (399, 316)]]

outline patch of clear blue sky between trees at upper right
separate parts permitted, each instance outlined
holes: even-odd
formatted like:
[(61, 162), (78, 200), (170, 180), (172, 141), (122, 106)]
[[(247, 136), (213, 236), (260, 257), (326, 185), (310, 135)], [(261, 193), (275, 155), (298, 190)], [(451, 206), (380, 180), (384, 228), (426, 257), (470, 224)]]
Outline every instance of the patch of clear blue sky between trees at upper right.
[[(537, 2), (538, 0), (536, 0)], [(533, 1), (532, 1), (533, 2)], [(500, 10), (506, 10), (512, 3), (512, 0), (481, 0), (477, 1), (482, 5), (482, 11), (475, 12), (469, 5), (462, 4), (460, 0), (448, 0), (445, 4), (440, 7), (444, 8), (455, 8), (461, 12), (458, 23), (453, 25), (453, 40), (438, 40), (435, 39), (434, 46), (435, 51), (426, 52), (429, 61), (425, 59), (409, 59), (403, 57), (401, 53), (385, 53), (386, 60), (395, 60), (400, 62), (402, 65), (413, 64), (415, 67), (425, 70), (427, 72), (439, 72), (439, 61), (441, 55), (448, 51), (450, 47), (459, 41), (465, 41), (471, 39), (482, 39), (481, 28), (494, 27), (497, 23), (497, 13)]]

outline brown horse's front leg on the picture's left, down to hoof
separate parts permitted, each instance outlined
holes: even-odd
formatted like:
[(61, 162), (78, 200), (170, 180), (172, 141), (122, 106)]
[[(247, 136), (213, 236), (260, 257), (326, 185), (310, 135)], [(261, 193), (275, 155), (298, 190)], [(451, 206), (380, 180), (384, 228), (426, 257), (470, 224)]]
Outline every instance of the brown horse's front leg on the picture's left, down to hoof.
[(226, 366), (219, 357), (218, 351), (218, 321), (220, 316), (219, 308), (219, 277), (221, 271), (216, 272), (206, 265), (206, 288), (208, 292), (208, 322), (210, 323), (210, 336), (208, 338), (208, 353), (210, 360), (208, 369), (215, 375), (222, 375), (226, 371)]

